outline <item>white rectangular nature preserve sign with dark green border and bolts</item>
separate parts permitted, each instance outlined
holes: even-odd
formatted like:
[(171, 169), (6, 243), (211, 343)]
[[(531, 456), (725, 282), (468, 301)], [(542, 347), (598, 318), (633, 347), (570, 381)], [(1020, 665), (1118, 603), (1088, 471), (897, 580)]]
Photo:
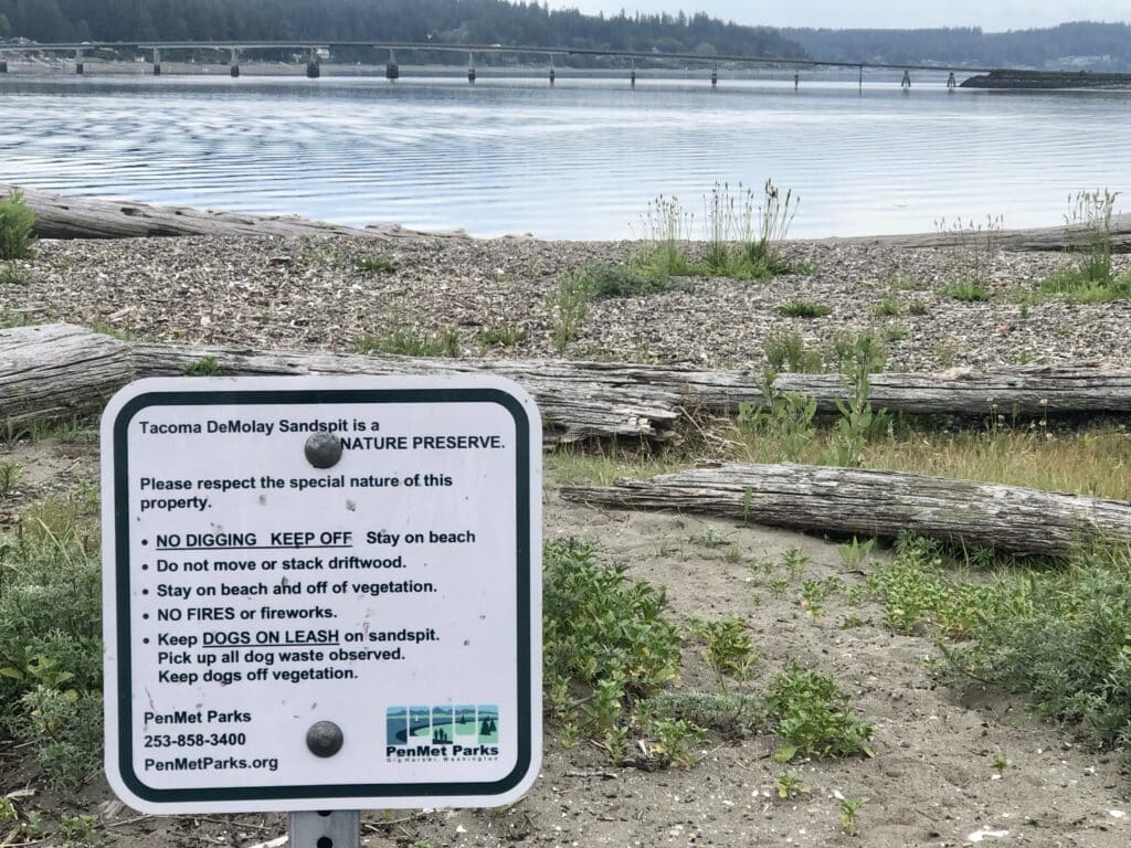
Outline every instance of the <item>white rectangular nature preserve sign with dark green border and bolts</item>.
[(102, 423), (118, 795), (519, 798), (542, 755), (541, 451), (533, 400), (498, 378), (122, 389)]

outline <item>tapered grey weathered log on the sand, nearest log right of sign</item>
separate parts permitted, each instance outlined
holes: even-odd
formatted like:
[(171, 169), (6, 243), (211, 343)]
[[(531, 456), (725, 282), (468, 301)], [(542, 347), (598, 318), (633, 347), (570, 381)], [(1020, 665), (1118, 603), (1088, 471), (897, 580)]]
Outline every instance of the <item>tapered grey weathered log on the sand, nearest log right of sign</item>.
[(613, 486), (567, 486), (567, 501), (708, 513), (838, 535), (900, 530), (1019, 554), (1060, 555), (1096, 539), (1131, 544), (1131, 503), (990, 483), (804, 465), (724, 465)]

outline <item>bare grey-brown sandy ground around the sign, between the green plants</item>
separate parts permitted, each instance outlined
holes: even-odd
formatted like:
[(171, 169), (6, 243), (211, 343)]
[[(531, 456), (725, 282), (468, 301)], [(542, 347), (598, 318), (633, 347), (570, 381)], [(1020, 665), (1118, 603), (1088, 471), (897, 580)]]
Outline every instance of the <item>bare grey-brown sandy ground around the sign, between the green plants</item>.
[[(3, 525), (34, 497), (96, 479), (97, 448), (89, 441), (2, 450), (0, 460), (25, 467), (18, 491), (0, 504)], [(760, 656), (758, 673), (742, 684), (748, 691), (761, 691), (789, 660), (834, 675), (875, 724), (874, 759), (793, 764), (811, 793), (782, 801), (775, 785), (784, 768), (772, 760), (771, 736), (714, 738), (690, 770), (644, 772), (612, 765), (588, 743), (563, 747), (549, 726), (541, 777), (520, 803), (501, 811), (365, 814), (364, 845), (1122, 848), (1131, 841), (1131, 816), (1124, 814), (1131, 813), (1131, 782), (1120, 773), (1117, 758), (1079, 745), (1070, 732), (1042, 724), (1001, 693), (936, 685), (922, 661), (936, 654), (932, 640), (889, 633), (873, 605), (849, 607), (834, 597), (822, 617), (805, 613), (798, 604), (803, 579), (838, 574), (847, 586), (863, 579), (846, 570), (835, 544), (726, 521), (567, 504), (553, 479), (545, 490), (544, 533), (547, 540), (582, 534), (602, 557), (627, 563), (630, 576), (666, 586), (680, 620), (725, 613), (746, 618)], [(802, 548), (811, 562), (776, 597), (746, 565), (779, 560), (791, 547)], [(863, 624), (843, 628), (848, 614)], [(711, 685), (698, 647), (687, 643), (679, 686)], [(1001, 776), (995, 755), (1010, 761)], [(138, 816), (121, 808), (102, 780), (77, 798), (60, 798), (42, 788), (23, 752), (0, 744), (0, 794), (28, 787), (35, 796), (19, 803), (44, 811), (49, 824), (62, 813), (101, 812), (104, 827), (95, 841), (123, 848), (248, 848), (286, 829), (279, 815)], [(841, 832), (841, 796), (867, 798), (857, 837)]]

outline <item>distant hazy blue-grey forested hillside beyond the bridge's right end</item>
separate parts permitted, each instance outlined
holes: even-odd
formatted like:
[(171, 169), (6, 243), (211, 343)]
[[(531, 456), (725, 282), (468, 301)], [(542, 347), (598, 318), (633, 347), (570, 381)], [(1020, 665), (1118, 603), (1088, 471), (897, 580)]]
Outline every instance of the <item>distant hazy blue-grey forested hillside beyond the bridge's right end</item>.
[[(783, 29), (813, 57), (847, 62), (961, 62), (1131, 70), (1131, 26), (1079, 21), (1045, 29)], [(1106, 58), (1105, 58), (1106, 57)]]

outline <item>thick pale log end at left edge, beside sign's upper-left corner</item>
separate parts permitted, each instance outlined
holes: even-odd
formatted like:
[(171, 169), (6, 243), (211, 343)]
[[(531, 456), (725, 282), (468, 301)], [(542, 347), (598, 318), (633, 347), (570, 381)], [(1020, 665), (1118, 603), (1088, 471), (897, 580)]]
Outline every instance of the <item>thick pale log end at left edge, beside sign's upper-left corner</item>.
[(0, 332), (0, 426), (60, 424), (100, 415), (133, 377), (123, 341), (71, 325)]

